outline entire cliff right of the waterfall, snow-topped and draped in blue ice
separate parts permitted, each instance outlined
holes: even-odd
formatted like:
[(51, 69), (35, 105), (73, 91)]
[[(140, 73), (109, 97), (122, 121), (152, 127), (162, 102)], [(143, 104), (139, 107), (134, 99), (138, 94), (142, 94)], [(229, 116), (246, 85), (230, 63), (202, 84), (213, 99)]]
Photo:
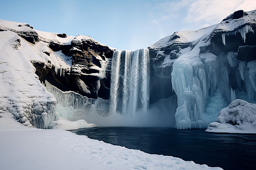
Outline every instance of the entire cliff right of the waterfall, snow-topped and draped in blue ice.
[(255, 31), (256, 10), (236, 11), (220, 24), (175, 32), (149, 47), (154, 74), (171, 78), (178, 129), (207, 128), (235, 99), (256, 103)]

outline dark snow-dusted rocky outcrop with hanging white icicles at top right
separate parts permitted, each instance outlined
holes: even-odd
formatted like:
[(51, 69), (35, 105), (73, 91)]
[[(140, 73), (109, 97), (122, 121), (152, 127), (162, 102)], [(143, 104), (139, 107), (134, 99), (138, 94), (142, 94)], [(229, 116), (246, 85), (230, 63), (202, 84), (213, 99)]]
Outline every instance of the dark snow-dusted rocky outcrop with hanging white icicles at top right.
[(211, 53), (218, 56), (225, 52), (238, 52), (244, 45), (256, 45), (256, 30), (254, 11), (236, 11), (226, 17), (210, 35), (211, 44), (207, 47)]

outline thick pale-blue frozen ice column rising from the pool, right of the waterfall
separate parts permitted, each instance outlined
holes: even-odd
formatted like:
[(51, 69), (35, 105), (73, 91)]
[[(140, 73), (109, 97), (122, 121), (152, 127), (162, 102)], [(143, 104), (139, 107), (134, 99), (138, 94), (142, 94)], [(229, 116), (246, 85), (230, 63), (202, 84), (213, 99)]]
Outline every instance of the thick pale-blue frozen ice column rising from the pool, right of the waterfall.
[[(218, 68), (217, 56), (212, 53), (199, 54), (196, 49), (174, 62), (172, 86), (178, 98), (175, 114), (177, 129), (203, 128), (214, 121), (214, 116), (212, 120), (209, 120), (209, 116), (218, 112), (220, 107), (217, 105), (223, 104), (216, 103), (214, 107), (207, 104), (216, 92)], [(208, 108), (207, 114), (205, 108)]]

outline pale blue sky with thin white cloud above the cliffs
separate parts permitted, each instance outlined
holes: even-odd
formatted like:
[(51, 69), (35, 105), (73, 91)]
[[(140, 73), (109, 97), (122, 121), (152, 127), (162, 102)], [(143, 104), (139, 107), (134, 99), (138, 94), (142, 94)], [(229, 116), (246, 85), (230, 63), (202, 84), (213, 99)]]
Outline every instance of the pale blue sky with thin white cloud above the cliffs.
[(232, 12), (256, 9), (255, 0), (2, 1), (0, 19), (35, 29), (89, 35), (117, 49), (147, 48), (175, 31), (216, 24)]

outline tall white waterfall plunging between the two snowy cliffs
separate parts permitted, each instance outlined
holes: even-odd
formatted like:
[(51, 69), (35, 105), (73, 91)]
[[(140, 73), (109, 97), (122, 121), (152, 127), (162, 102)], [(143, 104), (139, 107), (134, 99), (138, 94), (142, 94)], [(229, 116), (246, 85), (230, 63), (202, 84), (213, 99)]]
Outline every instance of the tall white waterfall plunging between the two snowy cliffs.
[(134, 114), (139, 109), (147, 111), (149, 70), (148, 49), (134, 52), (117, 50), (113, 53), (110, 106), (114, 112)]

